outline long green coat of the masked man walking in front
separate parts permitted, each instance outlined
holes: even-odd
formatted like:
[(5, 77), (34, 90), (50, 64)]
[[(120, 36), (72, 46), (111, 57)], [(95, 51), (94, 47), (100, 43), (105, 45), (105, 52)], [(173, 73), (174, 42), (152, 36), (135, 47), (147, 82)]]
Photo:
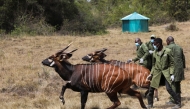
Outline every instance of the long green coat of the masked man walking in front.
[(174, 58), (169, 48), (163, 47), (162, 51), (153, 53), (152, 70), (153, 75), (151, 87), (158, 88), (160, 85), (161, 75), (171, 84), (170, 76), (174, 73)]

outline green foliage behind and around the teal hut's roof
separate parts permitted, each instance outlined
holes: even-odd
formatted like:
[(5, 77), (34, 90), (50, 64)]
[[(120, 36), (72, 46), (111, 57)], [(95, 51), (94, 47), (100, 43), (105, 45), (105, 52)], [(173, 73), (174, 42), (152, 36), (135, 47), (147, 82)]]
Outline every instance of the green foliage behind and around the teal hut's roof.
[[(189, 19), (187, 14), (188, 0), (117, 0), (115, 2), (116, 5), (111, 5), (111, 10), (106, 13), (106, 25), (120, 26), (120, 19), (133, 12), (149, 17), (150, 25), (170, 23), (173, 20), (187, 21)], [(109, 3), (105, 3), (103, 7), (107, 7), (107, 4)]]

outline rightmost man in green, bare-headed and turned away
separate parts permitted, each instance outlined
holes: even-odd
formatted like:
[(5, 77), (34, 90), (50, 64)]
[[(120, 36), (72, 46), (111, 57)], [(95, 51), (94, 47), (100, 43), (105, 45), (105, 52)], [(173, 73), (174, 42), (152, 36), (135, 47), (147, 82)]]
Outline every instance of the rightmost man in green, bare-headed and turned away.
[[(178, 99), (181, 104), (181, 81), (185, 79), (184, 68), (185, 68), (185, 55), (183, 54), (183, 49), (175, 44), (174, 38), (169, 36), (166, 39), (167, 48), (170, 48), (174, 57), (174, 82), (172, 83), (172, 89), (176, 92)], [(170, 101), (166, 104), (173, 104), (174, 100), (170, 97)], [(181, 105), (180, 105), (181, 106)]]

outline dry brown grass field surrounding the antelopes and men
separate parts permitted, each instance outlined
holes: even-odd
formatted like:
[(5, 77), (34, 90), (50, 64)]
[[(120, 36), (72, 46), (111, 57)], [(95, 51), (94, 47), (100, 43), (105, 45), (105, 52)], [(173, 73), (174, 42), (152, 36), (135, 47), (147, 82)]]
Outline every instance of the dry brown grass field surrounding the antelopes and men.
[[(129, 34), (121, 28), (109, 29), (109, 34), (101, 36), (36, 36), (0, 39), (0, 108), (1, 109), (79, 109), (80, 94), (68, 89), (65, 93), (65, 105), (59, 101), (59, 93), (64, 81), (52, 68), (42, 66), (41, 61), (67, 44), (74, 41), (68, 50), (78, 48), (70, 62), (85, 63), (81, 57), (94, 50), (108, 48), (106, 59), (126, 61), (135, 56), (134, 39), (140, 37), (149, 41), (151, 34), (163, 39), (172, 35), (181, 45), (186, 56), (186, 80), (182, 82), (182, 109), (190, 107), (190, 22), (176, 23), (178, 31), (165, 31), (167, 25), (151, 26), (151, 32)], [(145, 90), (139, 90), (143, 92)], [(155, 102), (155, 109), (170, 108), (165, 106), (169, 94), (165, 87), (159, 88), (160, 101)], [(122, 95), (122, 104), (118, 109), (140, 109), (136, 98)], [(145, 104), (147, 100), (144, 99)], [(104, 93), (90, 93), (86, 109), (105, 109), (112, 103)]]

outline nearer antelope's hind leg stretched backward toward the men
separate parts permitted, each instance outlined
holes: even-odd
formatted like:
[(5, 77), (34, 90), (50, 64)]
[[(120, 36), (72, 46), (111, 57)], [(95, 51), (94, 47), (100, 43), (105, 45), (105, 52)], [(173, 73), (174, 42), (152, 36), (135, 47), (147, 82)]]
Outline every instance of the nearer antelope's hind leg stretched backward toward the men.
[(127, 91), (127, 94), (129, 94), (130, 96), (136, 96), (138, 98), (139, 102), (140, 102), (141, 107), (142, 108), (146, 108), (140, 92), (138, 92), (138, 91), (133, 90), (133, 89), (130, 88)]

